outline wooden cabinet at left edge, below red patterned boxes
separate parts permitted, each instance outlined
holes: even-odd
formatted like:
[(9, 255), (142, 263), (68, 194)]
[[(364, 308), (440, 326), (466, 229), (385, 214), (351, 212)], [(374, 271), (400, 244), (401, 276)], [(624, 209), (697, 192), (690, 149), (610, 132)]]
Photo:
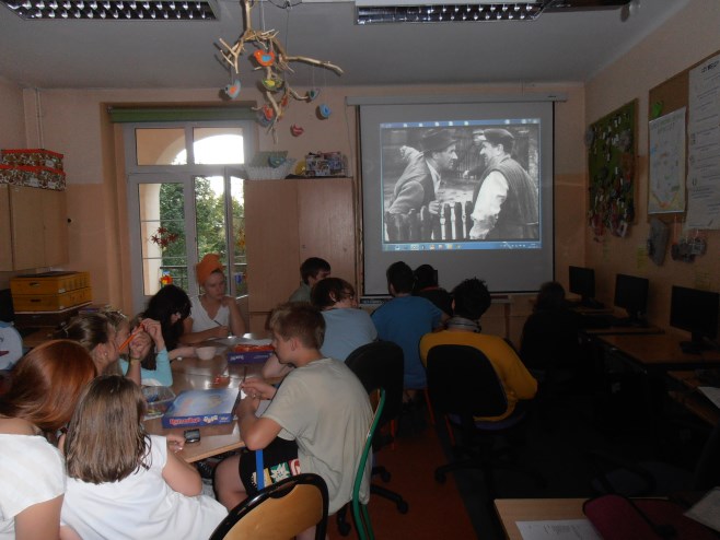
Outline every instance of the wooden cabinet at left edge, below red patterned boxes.
[(0, 270), (68, 261), (65, 191), (0, 185)]

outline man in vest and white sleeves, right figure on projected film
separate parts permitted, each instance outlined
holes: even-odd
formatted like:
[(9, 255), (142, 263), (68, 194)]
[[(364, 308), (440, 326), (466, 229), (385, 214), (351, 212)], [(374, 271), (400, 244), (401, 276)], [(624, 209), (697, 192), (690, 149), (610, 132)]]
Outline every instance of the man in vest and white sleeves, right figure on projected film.
[(512, 159), (515, 138), (486, 129), (480, 154), (487, 169), (473, 210), (472, 239), (539, 238), (537, 180)]

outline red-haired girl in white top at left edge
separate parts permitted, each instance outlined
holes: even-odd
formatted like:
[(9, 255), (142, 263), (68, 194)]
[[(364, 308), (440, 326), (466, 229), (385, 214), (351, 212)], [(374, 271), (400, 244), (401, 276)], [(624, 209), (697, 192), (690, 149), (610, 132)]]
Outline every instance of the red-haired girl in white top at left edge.
[(68, 340), (36, 347), (15, 365), (0, 400), (0, 539), (59, 538), (65, 465), (44, 434), (55, 438), (94, 376), (90, 354)]

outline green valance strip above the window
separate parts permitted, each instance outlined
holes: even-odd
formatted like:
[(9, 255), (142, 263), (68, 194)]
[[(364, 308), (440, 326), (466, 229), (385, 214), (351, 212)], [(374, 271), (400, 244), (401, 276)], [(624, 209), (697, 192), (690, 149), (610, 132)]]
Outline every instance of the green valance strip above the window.
[(255, 120), (254, 103), (232, 107), (115, 107), (107, 113), (113, 122)]

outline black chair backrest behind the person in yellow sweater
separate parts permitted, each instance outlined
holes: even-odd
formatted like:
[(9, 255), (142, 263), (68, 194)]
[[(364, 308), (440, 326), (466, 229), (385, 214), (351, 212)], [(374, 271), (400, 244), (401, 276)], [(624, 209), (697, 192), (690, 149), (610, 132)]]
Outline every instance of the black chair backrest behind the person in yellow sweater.
[(428, 352), (428, 391), (443, 414), (499, 416), (508, 410), (502, 383), (488, 357), (467, 345), (436, 345)]

